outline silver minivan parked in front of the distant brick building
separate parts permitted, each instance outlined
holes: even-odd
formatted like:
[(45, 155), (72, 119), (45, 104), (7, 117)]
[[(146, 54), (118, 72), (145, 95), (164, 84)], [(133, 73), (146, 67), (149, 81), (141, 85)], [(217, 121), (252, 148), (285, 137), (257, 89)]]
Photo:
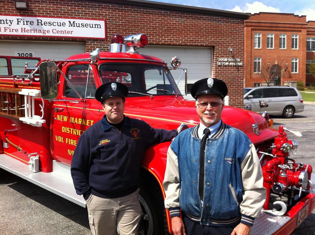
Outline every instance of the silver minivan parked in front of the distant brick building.
[(261, 86), (244, 88), (244, 109), (262, 114), (291, 118), (304, 110), (303, 98), (296, 87)]

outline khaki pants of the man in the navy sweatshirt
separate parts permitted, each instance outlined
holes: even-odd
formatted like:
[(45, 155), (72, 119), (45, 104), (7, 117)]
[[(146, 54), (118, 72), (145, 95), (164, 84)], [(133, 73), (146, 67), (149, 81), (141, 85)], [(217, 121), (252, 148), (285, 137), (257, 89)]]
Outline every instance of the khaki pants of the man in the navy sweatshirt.
[(89, 224), (93, 235), (136, 235), (141, 218), (139, 189), (121, 198), (100, 198), (90, 195), (86, 200)]

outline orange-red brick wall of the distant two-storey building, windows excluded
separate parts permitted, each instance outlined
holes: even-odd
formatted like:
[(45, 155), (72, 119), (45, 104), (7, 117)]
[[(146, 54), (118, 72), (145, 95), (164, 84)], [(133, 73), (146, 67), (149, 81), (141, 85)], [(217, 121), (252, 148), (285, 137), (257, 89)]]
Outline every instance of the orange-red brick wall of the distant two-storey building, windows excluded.
[[(253, 14), (245, 20), (245, 87), (252, 87), (254, 83), (264, 81), (259, 74), (254, 74), (255, 57), (261, 58), (261, 70), (266, 71), (268, 62), (270, 67), (273, 64), (281, 67), (281, 85), (284, 85), (285, 81), (302, 81), (304, 85), (311, 81), (312, 78), (306, 75), (306, 57), (313, 58), (314, 53), (306, 53), (306, 37), (315, 35), (311, 27), (314, 23), (306, 22), (306, 16), (283, 13)], [(261, 33), (261, 49), (254, 48), (255, 33)], [(274, 49), (266, 48), (267, 33), (274, 34)], [(286, 34), (286, 49), (279, 49), (280, 34)], [(291, 49), (292, 34), (299, 35), (298, 50)], [(291, 72), (292, 58), (298, 58), (298, 73)]]

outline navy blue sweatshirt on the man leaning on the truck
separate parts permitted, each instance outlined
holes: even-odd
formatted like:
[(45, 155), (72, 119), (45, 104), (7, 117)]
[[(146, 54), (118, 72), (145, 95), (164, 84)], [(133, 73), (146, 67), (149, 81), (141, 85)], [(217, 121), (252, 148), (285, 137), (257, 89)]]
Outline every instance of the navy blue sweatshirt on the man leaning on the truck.
[(144, 121), (126, 116), (119, 131), (104, 115), (81, 135), (74, 151), (71, 176), (77, 194), (83, 194), (84, 199), (90, 193), (118, 198), (135, 192), (145, 148), (175, 136), (175, 131), (154, 129)]

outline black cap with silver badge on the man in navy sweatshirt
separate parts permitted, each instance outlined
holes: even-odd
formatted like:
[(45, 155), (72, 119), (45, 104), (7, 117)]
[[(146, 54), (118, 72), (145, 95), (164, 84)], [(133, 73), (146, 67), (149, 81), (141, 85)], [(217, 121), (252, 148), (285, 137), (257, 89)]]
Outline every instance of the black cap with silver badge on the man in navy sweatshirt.
[(120, 82), (107, 82), (97, 88), (95, 92), (95, 99), (97, 101), (102, 101), (108, 97), (120, 96), (125, 97), (128, 95), (128, 87), (121, 84)]

